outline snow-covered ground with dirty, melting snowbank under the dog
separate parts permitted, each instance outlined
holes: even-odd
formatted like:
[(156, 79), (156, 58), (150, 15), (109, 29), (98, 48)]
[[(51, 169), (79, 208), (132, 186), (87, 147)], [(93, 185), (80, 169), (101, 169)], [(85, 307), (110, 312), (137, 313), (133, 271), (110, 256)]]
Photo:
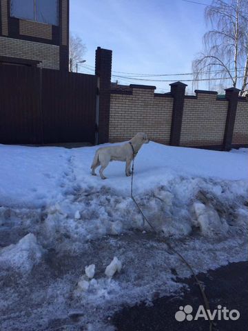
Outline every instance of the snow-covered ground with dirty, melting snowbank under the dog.
[[(112, 330), (124, 303), (180, 293), (190, 272), (164, 239), (195, 272), (247, 259), (247, 149), (143, 146), (134, 196), (155, 235), (124, 163), (90, 175), (97, 148), (0, 145), (1, 330)], [(122, 268), (107, 277), (114, 257)]]

